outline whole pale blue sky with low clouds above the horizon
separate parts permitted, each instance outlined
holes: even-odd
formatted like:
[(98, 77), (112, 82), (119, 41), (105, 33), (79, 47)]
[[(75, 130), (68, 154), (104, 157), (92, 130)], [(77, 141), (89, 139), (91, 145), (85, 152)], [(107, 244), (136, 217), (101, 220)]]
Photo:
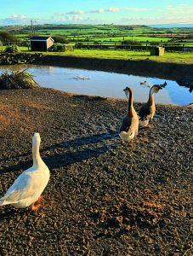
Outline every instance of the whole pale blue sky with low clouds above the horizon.
[(0, 26), (37, 24), (190, 24), (192, 0), (2, 0)]

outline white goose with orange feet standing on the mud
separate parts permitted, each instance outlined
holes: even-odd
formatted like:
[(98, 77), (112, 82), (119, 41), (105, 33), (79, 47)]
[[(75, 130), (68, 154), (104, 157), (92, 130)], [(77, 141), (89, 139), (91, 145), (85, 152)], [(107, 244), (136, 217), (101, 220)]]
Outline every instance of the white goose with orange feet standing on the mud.
[(33, 166), (17, 177), (13, 185), (0, 199), (0, 206), (31, 207), (33, 211), (41, 207), (42, 193), (49, 180), (49, 170), (39, 154), (40, 142), (39, 133), (34, 133), (32, 139)]

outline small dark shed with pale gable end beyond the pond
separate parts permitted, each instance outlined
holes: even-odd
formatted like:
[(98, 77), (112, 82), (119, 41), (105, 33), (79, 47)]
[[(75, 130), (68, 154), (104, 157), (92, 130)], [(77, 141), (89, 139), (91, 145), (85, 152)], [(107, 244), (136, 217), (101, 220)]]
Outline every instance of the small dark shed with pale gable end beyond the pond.
[(31, 50), (47, 51), (54, 45), (54, 39), (50, 37), (32, 37)]

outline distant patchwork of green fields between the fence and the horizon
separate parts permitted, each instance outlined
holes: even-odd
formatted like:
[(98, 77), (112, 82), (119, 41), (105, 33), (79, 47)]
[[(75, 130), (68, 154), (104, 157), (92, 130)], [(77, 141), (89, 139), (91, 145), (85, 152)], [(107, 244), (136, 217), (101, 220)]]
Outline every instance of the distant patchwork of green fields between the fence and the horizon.
[[(20, 40), (29, 40), (32, 35), (31, 26), (0, 26), (0, 31), (13, 32)], [(77, 41), (111, 41), (136, 40), (142, 42), (167, 42), (170, 40), (186, 40), (192, 36), (193, 28), (154, 28), (150, 26), (115, 26), (115, 25), (35, 25), (39, 36), (63, 36), (69, 42)]]

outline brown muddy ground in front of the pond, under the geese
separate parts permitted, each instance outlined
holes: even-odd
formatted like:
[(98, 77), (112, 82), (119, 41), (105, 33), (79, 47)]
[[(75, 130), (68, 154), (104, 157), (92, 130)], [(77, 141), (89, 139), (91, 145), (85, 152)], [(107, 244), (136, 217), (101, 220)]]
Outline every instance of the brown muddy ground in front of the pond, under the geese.
[(33, 132), (51, 172), (37, 212), (0, 208), (0, 255), (192, 255), (192, 108), (157, 106), (128, 146), (124, 100), (37, 89), (0, 102), (0, 196), (31, 166)]

